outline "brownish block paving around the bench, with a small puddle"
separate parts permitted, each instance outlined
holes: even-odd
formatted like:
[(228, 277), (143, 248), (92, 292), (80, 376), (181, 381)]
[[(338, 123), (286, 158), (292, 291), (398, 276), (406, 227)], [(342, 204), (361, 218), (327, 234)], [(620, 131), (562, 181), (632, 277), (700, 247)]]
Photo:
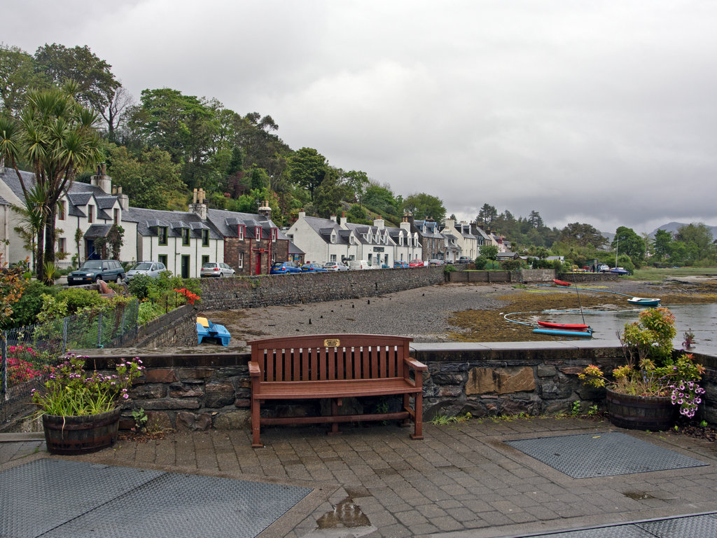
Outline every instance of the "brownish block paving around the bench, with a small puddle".
[[(568, 534), (551, 533), (576, 529), (592, 530), (569, 536), (607, 536), (599, 532), (628, 528), (609, 527), (615, 524), (640, 529), (635, 522), (654, 526), (663, 523), (652, 522), (655, 519), (695, 514), (711, 515), (668, 523), (717, 528), (713, 443), (576, 418), (473, 419), (424, 428), (420, 441), (393, 423), (345, 425), (336, 436), (319, 427), (265, 428), (265, 448), (260, 449), (251, 448), (248, 430), (168, 433), (162, 439), (120, 440), (98, 453), (62, 458), (49, 456), (40, 440), (18, 437), (0, 443), (0, 482), (4, 471), (53, 458), (310, 491), (276, 514), (260, 537), (561, 537)], [(610, 439), (613, 444), (607, 454), (600, 454), (575, 448), (576, 439)], [(550, 442), (547, 459), (519, 449), (521, 442), (537, 440)], [(620, 443), (630, 458), (619, 454)], [(632, 458), (635, 452), (644, 458)], [(640, 461), (655, 452), (663, 468), (642, 467)], [(572, 478), (551, 463), (562, 453), (578, 469), (597, 469), (592, 475), (612, 468), (615, 461), (627, 463), (618, 471), (605, 471), (617, 474)], [(597, 458), (605, 458), (605, 465), (596, 465)], [(679, 468), (674, 468), (676, 461)], [(239, 505), (245, 501), (236, 499)], [(148, 508), (146, 516), (151, 515)], [(208, 525), (206, 536), (212, 536)]]

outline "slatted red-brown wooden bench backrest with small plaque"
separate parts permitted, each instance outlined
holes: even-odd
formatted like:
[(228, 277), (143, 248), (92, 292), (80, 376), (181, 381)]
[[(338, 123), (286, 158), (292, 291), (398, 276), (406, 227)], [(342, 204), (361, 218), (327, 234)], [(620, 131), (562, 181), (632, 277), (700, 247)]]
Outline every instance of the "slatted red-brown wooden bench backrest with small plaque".
[(404, 377), (412, 338), (318, 334), (248, 342), (262, 382)]

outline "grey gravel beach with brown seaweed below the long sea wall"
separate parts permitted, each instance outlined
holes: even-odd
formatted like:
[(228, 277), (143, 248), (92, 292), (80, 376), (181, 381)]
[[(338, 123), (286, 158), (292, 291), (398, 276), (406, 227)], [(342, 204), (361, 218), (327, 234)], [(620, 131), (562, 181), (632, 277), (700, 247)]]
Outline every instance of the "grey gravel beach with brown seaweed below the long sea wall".
[[(671, 303), (687, 303), (717, 302), (716, 285), (713, 279), (673, 279), (662, 283), (605, 281), (590, 287), (642, 297), (669, 296)], [(580, 296), (583, 307), (618, 308), (624, 299), (605, 293)], [(503, 313), (576, 306), (573, 288), (445, 283), (386, 296), (203, 311), (200, 315), (226, 326), (232, 334), (229, 349), (242, 351), (248, 340), (292, 334), (397, 334), (417, 342), (475, 341), (475, 337), (462, 337), (463, 331), (475, 327), (483, 331), (483, 341), (511, 341), (515, 328), (505, 324)]]

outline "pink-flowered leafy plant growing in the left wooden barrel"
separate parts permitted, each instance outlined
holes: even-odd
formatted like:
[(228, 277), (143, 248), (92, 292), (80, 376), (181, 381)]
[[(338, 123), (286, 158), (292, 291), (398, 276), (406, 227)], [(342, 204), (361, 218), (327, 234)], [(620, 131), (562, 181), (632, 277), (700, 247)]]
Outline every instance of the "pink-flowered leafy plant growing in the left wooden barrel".
[(68, 353), (65, 362), (50, 369), (44, 390), (32, 392), (40, 414), (79, 416), (113, 410), (129, 398), (129, 388), (141, 376), (142, 361), (135, 357), (115, 366), (116, 374), (85, 371), (86, 357)]

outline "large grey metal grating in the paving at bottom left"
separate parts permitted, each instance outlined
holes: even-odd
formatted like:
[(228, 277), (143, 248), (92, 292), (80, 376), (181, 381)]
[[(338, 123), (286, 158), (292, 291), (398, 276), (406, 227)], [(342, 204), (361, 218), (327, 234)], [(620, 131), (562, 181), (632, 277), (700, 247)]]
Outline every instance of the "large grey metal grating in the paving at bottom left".
[(49, 459), (0, 477), (0, 536), (17, 538), (253, 538), (311, 491)]

